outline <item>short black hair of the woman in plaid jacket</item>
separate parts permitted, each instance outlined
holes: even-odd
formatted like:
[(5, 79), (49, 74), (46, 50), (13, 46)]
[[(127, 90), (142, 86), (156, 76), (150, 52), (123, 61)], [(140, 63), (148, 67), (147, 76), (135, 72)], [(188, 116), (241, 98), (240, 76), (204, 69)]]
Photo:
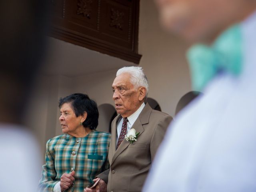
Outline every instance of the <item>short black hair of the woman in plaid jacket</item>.
[(91, 100), (88, 95), (82, 93), (74, 93), (59, 100), (59, 108), (64, 103), (70, 103), (76, 116), (80, 116), (87, 113), (86, 120), (83, 122), (84, 127), (89, 127), (90, 129), (96, 129), (98, 126), (99, 112), (97, 104), (94, 100)]

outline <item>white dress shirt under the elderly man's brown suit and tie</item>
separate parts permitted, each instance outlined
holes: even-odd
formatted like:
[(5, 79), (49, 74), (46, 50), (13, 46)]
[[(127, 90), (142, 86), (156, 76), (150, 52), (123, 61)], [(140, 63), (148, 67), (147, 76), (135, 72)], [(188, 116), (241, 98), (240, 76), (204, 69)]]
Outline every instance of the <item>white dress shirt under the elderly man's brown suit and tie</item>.
[[(140, 115), (140, 113), (142, 112), (144, 107), (145, 107), (145, 103), (143, 102), (141, 104), (141, 106), (136, 110), (136, 112), (134, 112), (129, 117), (127, 117), (127, 119), (128, 119), (128, 122), (127, 122), (127, 133), (131, 129), (131, 127), (133, 126), (134, 122), (136, 121), (136, 119), (138, 118), (138, 116)], [(122, 124), (123, 124), (123, 118), (120, 118), (118, 120), (117, 127), (116, 127), (116, 131), (117, 131), (117, 134), (116, 134), (116, 145), (117, 145), (118, 138), (119, 138), (119, 135), (120, 135), (121, 130), (122, 130)]]

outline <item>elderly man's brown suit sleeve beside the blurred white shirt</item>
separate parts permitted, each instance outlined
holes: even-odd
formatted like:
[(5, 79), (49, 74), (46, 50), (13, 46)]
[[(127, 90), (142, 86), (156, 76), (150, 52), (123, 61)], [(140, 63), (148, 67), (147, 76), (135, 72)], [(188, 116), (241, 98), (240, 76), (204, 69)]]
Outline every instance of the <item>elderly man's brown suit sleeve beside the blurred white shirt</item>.
[(156, 155), (156, 151), (158, 147), (160, 146), (162, 140), (164, 139), (165, 132), (171, 121), (172, 121), (172, 117), (170, 115), (164, 116), (161, 120), (159, 120), (154, 130), (154, 133), (150, 142), (150, 153), (151, 153), (152, 162)]

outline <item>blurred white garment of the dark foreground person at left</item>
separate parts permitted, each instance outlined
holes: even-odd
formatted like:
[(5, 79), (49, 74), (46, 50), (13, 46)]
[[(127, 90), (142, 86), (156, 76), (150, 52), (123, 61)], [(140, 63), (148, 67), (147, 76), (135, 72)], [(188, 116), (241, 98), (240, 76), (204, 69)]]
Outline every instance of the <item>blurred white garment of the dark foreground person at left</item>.
[(22, 126), (0, 124), (0, 151), (0, 191), (38, 191), (42, 163), (34, 136)]

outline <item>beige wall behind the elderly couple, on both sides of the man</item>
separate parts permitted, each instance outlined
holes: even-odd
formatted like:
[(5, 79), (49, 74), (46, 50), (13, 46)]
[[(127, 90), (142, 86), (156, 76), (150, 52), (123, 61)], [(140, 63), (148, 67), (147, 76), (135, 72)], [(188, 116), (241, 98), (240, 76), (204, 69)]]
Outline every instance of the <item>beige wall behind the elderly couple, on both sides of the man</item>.
[[(47, 66), (58, 71), (65, 62), (62, 55), (68, 55), (70, 60), (76, 60), (77, 56), (70, 54), (73, 47), (79, 54), (88, 54), (85, 48), (55, 40), (55, 47), (60, 42), (62, 48), (58, 49), (58, 56), (47, 60)], [(65, 48), (65, 46), (67, 48)], [(51, 55), (54, 55), (52, 48)], [(140, 22), (139, 22), (139, 53), (142, 54), (141, 67), (148, 77), (150, 84), (149, 97), (154, 98), (162, 108), (162, 111), (174, 116), (175, 107), (182, 95), (190, 91), (190, 78), (188, 66), (185, 60), (185, 50), (187, 46), (182, 40), (172, 34), (164, 32), (158, 23), (158, 14), (152, 0), (140, 0)], [(93, 53), (94, 54), (94, 53)], [(73, 55), (73, 59), (72, 59)], [(103, 55), (100, 60), (98, 55)], [(42, 149), (42, 156), (45, 153), (46, 140), (61, 134), (58, 122), (59, 109), (58, 99), (74, 92), (86, 93), (90, 98), (96, 100), (98, 105), (104, 103), (113, 104), (111, 85), (114, 80), (116, 70), (122, 66), (132, 65), (129, 62), (121, 62), (104, 54), (96, 54), (98, 68), (104, 66), (101, 72), (84, 73), (79, 76), (66, 75), (42, 75), (34, 99), (30, 106), (28, 124), (36, 129), (36, 135)], [(108, 61), (109, 58), (109, 61)], [(119, 62), (106, 69), (106, 63)], [(79, 60), (79, 68), (89, 67), (86, 62)], [(57, 65), (54, 67), (52, 65)], [(70, 64), (74, 65), (74, 64)], [(72, 67), (71, 66), (71, 67)], [(91, 67), (91, 66), (90, 66)], [(73, 68), (72, 73), (74, 74)], [(95, 70), (95, 69), (94, 69)], [(53, 70), (52, 70), (53, 71)]]

